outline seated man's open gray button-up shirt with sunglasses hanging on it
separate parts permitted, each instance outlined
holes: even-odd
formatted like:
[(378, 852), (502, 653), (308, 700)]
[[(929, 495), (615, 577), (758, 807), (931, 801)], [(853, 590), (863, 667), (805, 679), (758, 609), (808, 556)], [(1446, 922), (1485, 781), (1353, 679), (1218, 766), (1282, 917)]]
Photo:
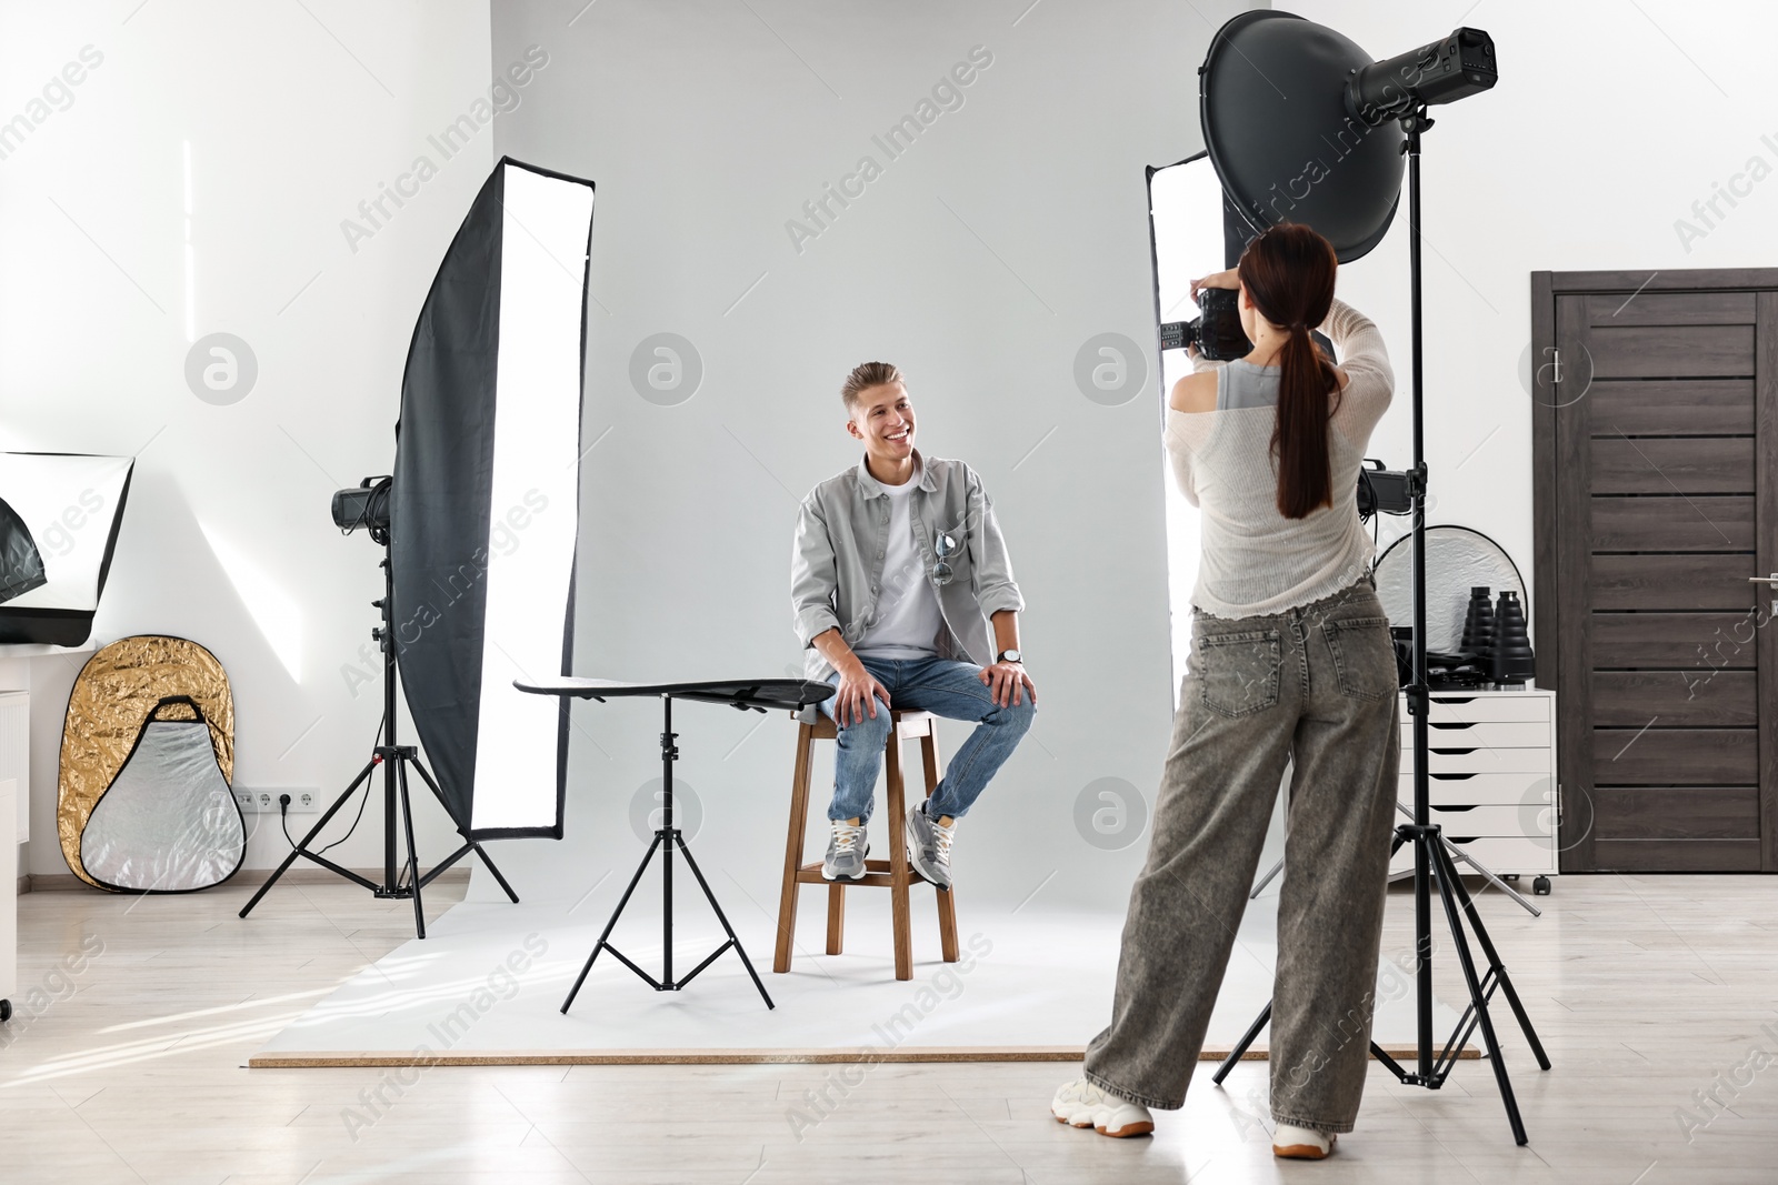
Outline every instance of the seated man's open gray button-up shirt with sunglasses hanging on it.
[[(989, 666), (996, 654), (989, 616), (1001, 609), (1024, 609), (1012, 579), (1006, 540), (994, 519), (994, 503), (976, 471), (960, 460), (926, 458), (914, 449), (914, 464), (919, 478), (909, 517), (926, 581), (932, 581), (932, 569), (939, 563), (933, 553), (937, 535), (944, 533), (955, 544), (944, 558), (951, 581), (933, 585), (944, 615), (933, 650), (939, 657)], [(807, 679), (825, 680), (834, 673), (811, 645), (816, 636), (839, 629), (848, 647), (864, 638), (884, 583), (887, 533), (889, 492), (862, 460), (802, 499), (789, 599)]]

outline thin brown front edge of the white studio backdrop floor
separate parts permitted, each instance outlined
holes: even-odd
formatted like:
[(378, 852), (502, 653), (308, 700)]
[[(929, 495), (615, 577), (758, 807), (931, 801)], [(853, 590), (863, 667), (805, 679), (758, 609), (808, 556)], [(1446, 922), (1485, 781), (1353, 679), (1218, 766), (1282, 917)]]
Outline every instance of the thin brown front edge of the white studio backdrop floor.
[[(1204, 1046), (1198, 1061), (1220, 1062), (1232, 1046)], [(1385, 1045), (1396, 1061), (1412, 1061), (1412, 1045)], [(420, 1054), (420, 1052), (313, 1052), (256, 1054), (249, 1070), (316, 1070), (379, 1066), (797, 1066), (827, 1062), (1077, 1062), (1083, 1045), (1006, 1045), (1006, 1046), (901, 1046), (894, 1050), (512, 1050), (501, 1054)], [(1465, 1045), (1463, 1059), (1481, 1057)], [(1241, 1061), (1266, 1061), (1266, 1046), (1248, 1046)]]

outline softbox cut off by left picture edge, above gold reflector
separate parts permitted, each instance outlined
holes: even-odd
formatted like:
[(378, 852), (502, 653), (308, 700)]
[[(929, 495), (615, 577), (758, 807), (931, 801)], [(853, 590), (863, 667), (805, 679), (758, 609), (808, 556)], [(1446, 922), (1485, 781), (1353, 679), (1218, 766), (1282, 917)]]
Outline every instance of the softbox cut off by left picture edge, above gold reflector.
[(92, 632), (133, 457), (0, 453), (0, 643)]

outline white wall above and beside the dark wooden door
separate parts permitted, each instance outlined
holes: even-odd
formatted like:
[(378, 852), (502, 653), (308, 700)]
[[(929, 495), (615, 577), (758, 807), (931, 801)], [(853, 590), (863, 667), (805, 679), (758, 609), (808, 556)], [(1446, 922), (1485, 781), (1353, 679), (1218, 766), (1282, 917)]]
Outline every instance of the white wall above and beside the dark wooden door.
[[(1293, 0), (1376, 57), (1462, 21), (1495, 41), (1494, 91), (1433, 110), (1424, 135), (1428, 522), (1492, 535), (1531, 574), (1531, 272), (1778, 265), (1778, 179), (1680, 242), (1712, 195), (1762, 156), (1778, 171), (1778, 9), (1755, 0)], [(1771, 137), (1767, 144), (1762, 137)], [(1726, 210), (1726, 206), (1721, 206)], [(1410, 460), (1406, 206), (1389, 238), (1341, 270), (1341, 297), (1383, 329), (1398, 402), (1373, 437)], [(1389, 521), (1389, 531), (1399, 522)]]

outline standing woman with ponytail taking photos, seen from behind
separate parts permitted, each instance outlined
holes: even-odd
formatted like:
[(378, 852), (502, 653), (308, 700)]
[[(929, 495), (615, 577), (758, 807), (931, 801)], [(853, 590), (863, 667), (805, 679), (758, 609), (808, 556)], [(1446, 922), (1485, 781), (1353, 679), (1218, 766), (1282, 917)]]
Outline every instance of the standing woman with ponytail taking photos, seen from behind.
[(1358, 1114), (1401, 743), (1357, 483), (1394, 375), (1376, 327), (1334, 298), (1335, 270), (1325, 238), (1284, 224), (1191, 286), (1239, 290), (1253, 348), (1197, 359), (1166, 414), (1175, 478), (1202, 510), (1191, 659), (1111, 1023), (1051, 1105), (1106, 1135), (1152, 1132), (1150, 1107), (1184, 1105), (1285, 762), (1273, 1153), (1326, 1157)]

